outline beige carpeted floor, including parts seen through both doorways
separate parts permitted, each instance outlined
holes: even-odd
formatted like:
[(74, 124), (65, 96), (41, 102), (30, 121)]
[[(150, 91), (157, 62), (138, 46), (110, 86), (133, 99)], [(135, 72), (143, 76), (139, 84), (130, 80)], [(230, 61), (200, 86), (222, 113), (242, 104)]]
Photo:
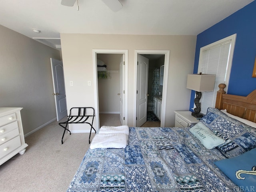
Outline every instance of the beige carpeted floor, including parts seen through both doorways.
[[(119, 114), (100, 114), (102, 125), (121, 125)], [(143, 126), (156, 125), (146, 122)], [(64, 144), (61, 144), (63, 131), (54, 121), (26, 137), (26, 152), (17, 154), (0, 166), (0, 191), (65, 192), (89, 148), (89, 134), (66, 133)]]

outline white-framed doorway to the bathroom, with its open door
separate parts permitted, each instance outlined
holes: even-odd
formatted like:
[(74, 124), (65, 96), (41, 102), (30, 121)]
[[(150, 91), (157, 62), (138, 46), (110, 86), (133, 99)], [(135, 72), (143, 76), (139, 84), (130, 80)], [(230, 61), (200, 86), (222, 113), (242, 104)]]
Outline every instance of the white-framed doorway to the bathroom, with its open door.
[(169, 51), (136, 51), (136, 126), (164, 126)]

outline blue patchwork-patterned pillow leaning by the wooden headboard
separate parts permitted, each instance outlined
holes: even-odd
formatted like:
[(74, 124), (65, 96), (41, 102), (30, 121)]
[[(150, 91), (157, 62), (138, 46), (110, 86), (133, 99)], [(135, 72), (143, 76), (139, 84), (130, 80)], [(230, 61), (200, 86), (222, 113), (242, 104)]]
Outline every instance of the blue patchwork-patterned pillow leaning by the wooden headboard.
[(256, 129), (216, 108), (208, 108), (200, 119), (216, 136), (225, 140), (217, 148), (226, 158), (232, 158), (256, 148)]

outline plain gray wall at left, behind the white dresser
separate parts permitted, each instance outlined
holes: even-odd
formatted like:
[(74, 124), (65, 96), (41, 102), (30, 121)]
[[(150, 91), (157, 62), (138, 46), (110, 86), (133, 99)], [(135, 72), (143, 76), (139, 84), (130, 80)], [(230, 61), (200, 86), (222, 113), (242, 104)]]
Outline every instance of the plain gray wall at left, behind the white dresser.
[(50, 58), (60, 52), (0, 25), (0, 107), (22, 107), (24, 134), (56, 118)]

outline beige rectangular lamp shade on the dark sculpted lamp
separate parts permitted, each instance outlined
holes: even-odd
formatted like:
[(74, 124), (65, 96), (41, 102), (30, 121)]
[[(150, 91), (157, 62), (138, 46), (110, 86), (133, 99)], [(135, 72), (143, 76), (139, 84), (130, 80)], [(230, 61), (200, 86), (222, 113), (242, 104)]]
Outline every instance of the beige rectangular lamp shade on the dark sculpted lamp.
[(215, 85), (215, 74), (188, 74), (187, 88), (198, 92), (212, 91)]

